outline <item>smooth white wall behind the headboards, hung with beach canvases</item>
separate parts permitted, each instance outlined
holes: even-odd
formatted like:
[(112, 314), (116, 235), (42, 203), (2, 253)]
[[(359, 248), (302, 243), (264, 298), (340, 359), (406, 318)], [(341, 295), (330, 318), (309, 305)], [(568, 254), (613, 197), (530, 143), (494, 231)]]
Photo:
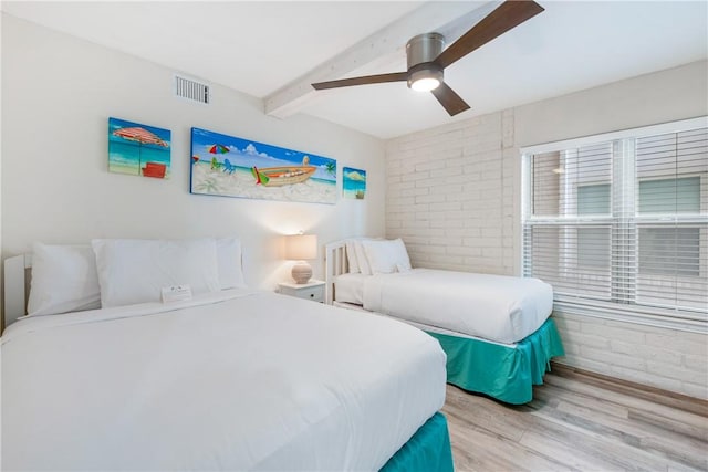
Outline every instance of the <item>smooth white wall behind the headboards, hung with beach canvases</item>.
[[(247, 282), (273, 287), (289, 277), (279, 234), (304, 230), (321, 245), (383, 234), (379, 139), (305, 116), (268, 117), (260, 99), (217, 84), (208, 106), (175, 98), (174, 72), (3, 13), (3, 259), (33, 241), (236, 234), (246, 248)], [(108, 172), (108, 117), (170, 129), (171, 178)], [(308, 204), (192, 196), (192, 126), (334, 158), (340, 189), (343, 166), (366, 169), (366, 199)], [(322, 256), (312, 261), (320, 277)]]

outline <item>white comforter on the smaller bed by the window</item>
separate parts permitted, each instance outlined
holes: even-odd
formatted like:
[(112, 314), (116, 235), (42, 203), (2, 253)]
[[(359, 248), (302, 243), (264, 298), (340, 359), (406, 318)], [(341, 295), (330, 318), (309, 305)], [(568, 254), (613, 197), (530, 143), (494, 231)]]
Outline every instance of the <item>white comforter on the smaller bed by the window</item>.
[(551, 315), (553, 289), (538, 279), (414, 269), (366, 277), (364, 308), (513, 344)]

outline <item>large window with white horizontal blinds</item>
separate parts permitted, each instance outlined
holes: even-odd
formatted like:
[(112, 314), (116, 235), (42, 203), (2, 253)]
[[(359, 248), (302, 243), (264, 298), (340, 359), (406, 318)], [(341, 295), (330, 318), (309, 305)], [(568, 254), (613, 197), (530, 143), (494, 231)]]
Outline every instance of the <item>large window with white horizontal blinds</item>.
[(524, 275), (551, 283), (556, 307), (705, 329), (707, 126), (523, 149)]

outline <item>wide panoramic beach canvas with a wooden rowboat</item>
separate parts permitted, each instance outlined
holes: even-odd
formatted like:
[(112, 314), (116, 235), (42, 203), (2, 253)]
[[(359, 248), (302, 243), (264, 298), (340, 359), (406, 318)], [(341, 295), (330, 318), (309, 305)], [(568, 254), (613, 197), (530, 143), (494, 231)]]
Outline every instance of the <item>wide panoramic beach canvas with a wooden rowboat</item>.
[(336, 160), (191, 128), (190, 192), (336, 202)]

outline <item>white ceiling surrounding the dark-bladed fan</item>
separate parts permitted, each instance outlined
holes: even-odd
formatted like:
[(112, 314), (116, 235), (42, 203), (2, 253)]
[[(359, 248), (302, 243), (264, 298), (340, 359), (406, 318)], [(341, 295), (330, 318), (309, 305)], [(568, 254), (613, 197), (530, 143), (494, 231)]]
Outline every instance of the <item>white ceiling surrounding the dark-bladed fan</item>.
[(496, 3), (2, 1), (1, 8), (264, 103), (294, 94), (278, 116), (304, 113), (381, 138), (708, 57), (705, 0), (539, 3), (543, 13), (445, 71), (446, 83), (471, 105), (454, 118), (431, 94), (405, 83), (322, 92), (302, 84), (405, 71), (406, 39), (426, 31), (449, 39)]

